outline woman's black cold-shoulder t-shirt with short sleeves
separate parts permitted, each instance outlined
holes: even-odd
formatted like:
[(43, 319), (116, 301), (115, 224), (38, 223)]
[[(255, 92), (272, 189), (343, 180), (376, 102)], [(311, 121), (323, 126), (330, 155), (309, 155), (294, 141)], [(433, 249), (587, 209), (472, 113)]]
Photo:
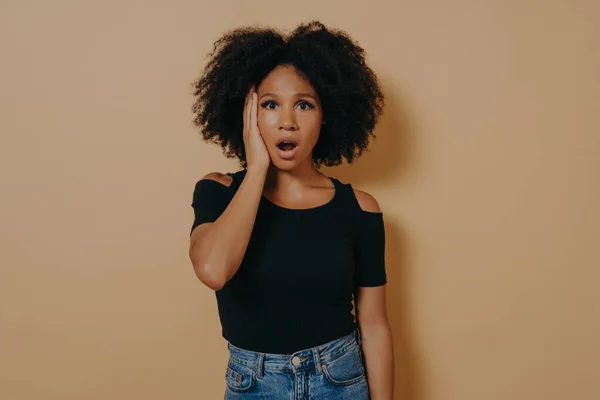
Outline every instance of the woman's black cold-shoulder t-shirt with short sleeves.
[[(225, 211), (247, 170), (230, 186), (196, 183), (192, 230)], [(331, 201), (289, 209), (262, 196), (236, 274), (216, 291), (223, 337), (263, 353), (291, 354), (351, 333), (358, 287), (386, 283), (382, 212), (364, 211), (350, 184), (330, 177)]]

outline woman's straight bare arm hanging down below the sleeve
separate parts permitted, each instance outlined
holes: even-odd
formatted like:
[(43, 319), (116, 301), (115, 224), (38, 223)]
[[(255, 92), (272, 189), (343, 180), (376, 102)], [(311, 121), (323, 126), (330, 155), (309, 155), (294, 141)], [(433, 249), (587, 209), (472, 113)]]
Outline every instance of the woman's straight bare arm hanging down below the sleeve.
[(360, 287), (356, 301), (371, 400), (392, 400), (394, 350), (386, 312), (385, 285)]

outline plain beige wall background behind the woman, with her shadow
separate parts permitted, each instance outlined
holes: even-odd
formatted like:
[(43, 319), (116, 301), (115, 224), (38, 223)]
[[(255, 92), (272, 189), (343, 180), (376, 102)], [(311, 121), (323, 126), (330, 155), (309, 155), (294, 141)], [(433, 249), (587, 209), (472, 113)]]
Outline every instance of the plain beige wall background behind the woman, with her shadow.
[(588, 1), (3, 1), (0, 398), (218, 399), (187, 256), (191, 120), (226, 29), (317, 18), (387, 96), (325, 169), (386, 216), (397, 397), (600, 398), (600, 6)]

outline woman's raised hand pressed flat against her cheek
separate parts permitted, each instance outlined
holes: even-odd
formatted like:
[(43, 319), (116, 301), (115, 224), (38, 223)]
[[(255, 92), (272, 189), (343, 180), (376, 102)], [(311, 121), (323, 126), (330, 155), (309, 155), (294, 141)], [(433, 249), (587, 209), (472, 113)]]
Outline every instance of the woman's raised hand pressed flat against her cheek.
[(246, 95), (244, 104), (243, 139), (248, 169), (258, 168), (266, 171), (271, 164), (271, 156), (258, 129), (258, 94), (254, 91), (254, 85)]

